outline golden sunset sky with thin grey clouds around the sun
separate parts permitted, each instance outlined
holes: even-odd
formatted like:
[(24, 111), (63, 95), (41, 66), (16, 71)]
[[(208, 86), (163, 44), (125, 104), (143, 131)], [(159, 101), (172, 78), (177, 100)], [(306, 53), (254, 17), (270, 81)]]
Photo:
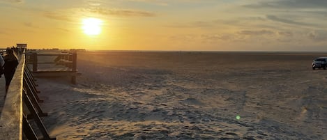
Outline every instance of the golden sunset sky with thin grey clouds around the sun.
[[(83, 20), (100, 20), (100, 34)], [(327, 51), (326, 0), (0, 0), (0, 47)]]

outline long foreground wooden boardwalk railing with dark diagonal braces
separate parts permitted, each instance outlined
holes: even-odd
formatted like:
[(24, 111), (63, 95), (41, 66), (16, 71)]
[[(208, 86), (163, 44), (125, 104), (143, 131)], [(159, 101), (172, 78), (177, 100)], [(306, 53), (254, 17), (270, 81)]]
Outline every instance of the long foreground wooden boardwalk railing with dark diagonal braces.
[[(47, 116), (40, 109), (36, 84), (31, 70), (26, 67), (25, 55), (20, 57), (15, 75), (10, 82), (0, 117), (0, 139), (51, 139), (40, 117)], [(33, 121), (30, 121), (32, 120)], [(33, 127), (31, 127), (31, 123)], [(37, 127), (37, 128), (36, 128)], [(35, 131), (36, 130), (36, 131)], [(38, 135), (42, 134), (42, 136)]]

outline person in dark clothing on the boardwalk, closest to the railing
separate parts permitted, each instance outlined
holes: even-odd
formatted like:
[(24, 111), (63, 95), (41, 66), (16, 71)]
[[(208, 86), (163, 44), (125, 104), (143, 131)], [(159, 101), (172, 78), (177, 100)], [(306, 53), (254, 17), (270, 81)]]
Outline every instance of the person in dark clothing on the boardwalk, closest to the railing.
[(6, 49), (6, 56), (3, 57), (3, 61), (5, 61), (5, 65), (3, 66), (3, 68), (4, 68), (5, 79), (6, 79), (6, 95), (7, 95), (10, 81), (11, 79), (13, 79), (13, 76), (16, 71), (16, 67), (18, 65), (18, 59), (15, 53), (13, 52), (13, 49), (10, 48)]

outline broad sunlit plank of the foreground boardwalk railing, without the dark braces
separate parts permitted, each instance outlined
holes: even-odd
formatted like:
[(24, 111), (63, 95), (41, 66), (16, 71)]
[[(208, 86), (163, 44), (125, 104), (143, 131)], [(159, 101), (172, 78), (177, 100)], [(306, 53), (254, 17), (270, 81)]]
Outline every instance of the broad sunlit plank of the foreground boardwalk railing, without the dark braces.
[(22, 55), (3, 105), (0, 118), (1, 139), (22, 139), (22, 82), (24, 65), (25, 57)]

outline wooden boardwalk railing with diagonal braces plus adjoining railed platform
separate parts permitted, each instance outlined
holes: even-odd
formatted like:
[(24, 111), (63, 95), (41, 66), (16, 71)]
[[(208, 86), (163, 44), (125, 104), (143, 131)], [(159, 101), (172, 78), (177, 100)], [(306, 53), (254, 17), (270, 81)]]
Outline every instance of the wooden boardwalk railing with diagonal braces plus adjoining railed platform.
[[(26, 59), (26, 56), (29, 59)], [(55, 59), (54, 61), (44, 62), (46, 59), (43, 56), (55, 56)], [(40, 62), (38, 59), (42, 61)], [(24, 133), (27, 139), (38, 139), (42, 134), (41, 137), (43, 139), (55, 140), (55, 137), (50, 137), (49, 132), (47, 132), (40, 118), (47, 116), (47, 114), (43, 113), (38, 104), (38, 102), (43, 101), (36, 95), (38, 91), (35, 88), (36, 85), (33, 77), (70, 76), (72, 84), (75, 84), (77, 76), (77, 53), (33, 53), (22, 55), (19, 60), (15, 75), (8, 88), (6, 101), (3, 100), (6, 94), (6, 81), (4, 76), (0, 78), (0, 139), (22, 139)], [(27, 66), (29, 64), (32, 65), (32, 70)], [(43, 64), (55, 65), (54, 68), (56, 70), (42, 71)], [(65, 71), (57, 71), (58, 69), (63, 70), (62, 68), (66, 68)], [(32, 76), (32, 72), (34, 76)], [(33, 120), (30, 121), (31, 119)], [(34, 130), (37, 132), (34, 132)]]

